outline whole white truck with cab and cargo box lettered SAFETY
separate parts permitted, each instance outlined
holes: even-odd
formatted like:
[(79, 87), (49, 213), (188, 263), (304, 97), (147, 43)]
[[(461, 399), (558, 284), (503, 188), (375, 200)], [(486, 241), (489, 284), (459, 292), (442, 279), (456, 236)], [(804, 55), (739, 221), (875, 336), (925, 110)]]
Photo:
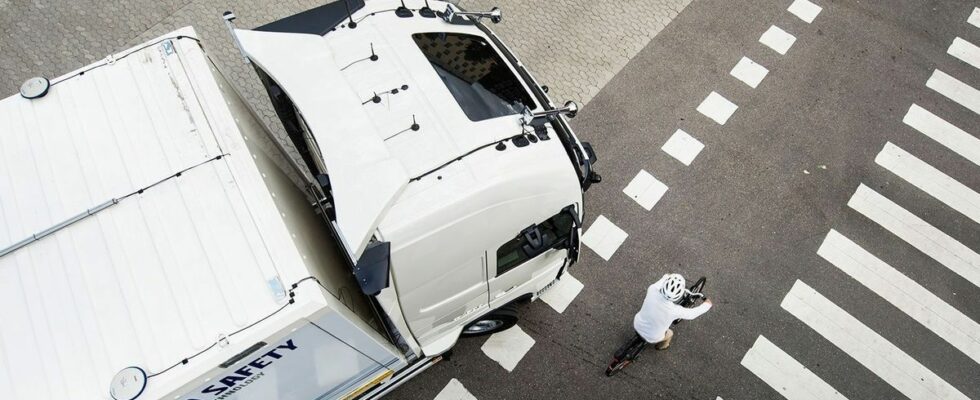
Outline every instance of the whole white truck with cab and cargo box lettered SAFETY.
[(0, 398), (377, 398), (512, 326), (595, 155), (499, 10), (406, 3), (232, 29), (301, 163), (189, 27), (0, 100)]

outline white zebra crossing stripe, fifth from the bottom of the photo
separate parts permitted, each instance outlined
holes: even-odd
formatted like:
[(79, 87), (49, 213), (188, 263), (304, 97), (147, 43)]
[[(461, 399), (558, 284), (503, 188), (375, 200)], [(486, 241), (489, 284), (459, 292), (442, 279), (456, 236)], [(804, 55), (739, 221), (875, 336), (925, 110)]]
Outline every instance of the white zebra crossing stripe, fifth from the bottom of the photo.
[(980, 223), (980, 194), (933, 168), (891, 142), (875, 162), (932, 197)]

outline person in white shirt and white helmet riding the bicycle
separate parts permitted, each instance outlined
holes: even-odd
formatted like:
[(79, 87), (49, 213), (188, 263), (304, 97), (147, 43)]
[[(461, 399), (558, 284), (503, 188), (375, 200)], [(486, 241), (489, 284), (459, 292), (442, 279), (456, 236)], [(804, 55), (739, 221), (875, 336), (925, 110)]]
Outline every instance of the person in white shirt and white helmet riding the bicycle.
[(667, 274), (647, 288), (643, 306), (633, 317), (633, 329), (636, 330), (633, 344), (644, 340), (655, 343), (657, 350), (666, 350), (674, 338), (674, 331), (670, 326), (675, 320), (695, 319), (711, 308), (711, 300), (708, 299), (694, 308), (678, 305), (676, 302), (687, 291), (684, 284), (684, 277), (680, 274)]

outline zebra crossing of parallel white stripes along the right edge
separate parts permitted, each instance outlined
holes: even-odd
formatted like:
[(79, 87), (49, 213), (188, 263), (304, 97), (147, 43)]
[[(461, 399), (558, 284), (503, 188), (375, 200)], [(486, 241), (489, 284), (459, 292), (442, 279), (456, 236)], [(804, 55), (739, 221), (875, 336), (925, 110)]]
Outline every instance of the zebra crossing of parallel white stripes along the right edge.
[[(980, 8), (968, 22), (980, 27)], [(972, 29), (972, 28), (968, 28)], [(947, 54), (980, 71), (980, 47), (961, 37), (953, 39)], [(980, 90), (957, 77), (935, 69), (925, 85), (945, 99), (980, 116)], [(911, 104), (905, 125), (932, 139), (941, 151), (956, 154), (980, 166), (980, 139), (972, 131), (950, 123), (933, 111)], [(980, 224), (980, 194), (941, 169), (930, 165), (900, 144), (886, 142), (874, 159), (875, 165), (898, 177), (896, 184), (913, 187), (934, 201), (965, 217), (967, 223)], [(976, 172), (974, 172), (976, 173)], [(848, 212), (884, 228), (888, 234), (935, 260), (939, 265), (980, 290), (980, 254), (954, 235), (908, 211), (896, 199), (859, 184), (847, 202)], [(874, 240), (877, 238), (870, 238)], [(844, 272), (850, 279), (884, 299), (905, 317), (922, 325), (936, 337), (980, 365), (980, 324), (936, 296), (919, 282), (906, 276), (861, 246), (863, 240), (830, 229), (816, 254)], [(885, 383), (910, 399), (967, 399), (964, 388), (930, 371), (905, 350), (851, 315), (802, 280), (785, 295), (781, 308), (803, 322), (847, 356), (857, 361)], [(938, 343), (937, 343), (938, 345)], [(787, 399), (843, 399), (816, 373), (783, 351), (776, 343), (759, 335), (745, 353), (742, 366)], [(973, 366), (974, 369), (980, 368)]]

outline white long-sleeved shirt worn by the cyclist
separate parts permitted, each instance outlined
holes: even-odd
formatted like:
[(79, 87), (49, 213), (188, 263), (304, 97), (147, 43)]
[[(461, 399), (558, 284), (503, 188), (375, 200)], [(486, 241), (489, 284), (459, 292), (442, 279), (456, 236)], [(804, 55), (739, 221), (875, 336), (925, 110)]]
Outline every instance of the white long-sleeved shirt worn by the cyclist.
[(667, 275), (647, 288), (647, 297), (643, 299), (643, 307), (633, 317), (633, 329), (636, 329), (636, 333), (640, 334), (640, 337), (648, 343), (664, 340), (664, 334), (667, 333), (667, 329), (670, 328), (670, 324), (674, 320), (695, 319), (711, 308), (708, 303), (687, 308), (667, 300), (663, 293), (660, 293), (660, 288), (663, 287), (665, 280), (667, 280)]

